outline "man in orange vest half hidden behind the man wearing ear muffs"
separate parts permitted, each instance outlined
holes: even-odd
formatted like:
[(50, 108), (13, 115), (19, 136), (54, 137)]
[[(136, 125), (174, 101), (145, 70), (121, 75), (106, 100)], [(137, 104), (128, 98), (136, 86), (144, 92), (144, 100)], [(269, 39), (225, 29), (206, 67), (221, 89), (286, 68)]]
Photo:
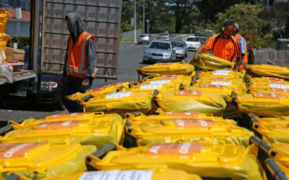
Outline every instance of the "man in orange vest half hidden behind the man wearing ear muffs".
[(239, 24), (235, 23), (235, 30), (233, 32), (234, 37), (238, 40), (240, 45), (240, 60), (237, 62), (236, 66), (243, 69), (245, 64), (248, 64), (248, 43), (245, 37), (239, 34)]

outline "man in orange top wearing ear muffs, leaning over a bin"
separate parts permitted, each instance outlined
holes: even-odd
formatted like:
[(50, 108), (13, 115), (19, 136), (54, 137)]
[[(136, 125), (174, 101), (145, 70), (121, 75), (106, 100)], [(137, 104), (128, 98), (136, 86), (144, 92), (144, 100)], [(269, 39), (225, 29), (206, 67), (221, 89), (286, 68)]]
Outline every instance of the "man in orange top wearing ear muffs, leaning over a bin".
[[(231, 19), (224, 21), (221, 33), (211, 36), (203, 45), (201, 45), (194, 55), (194, 60), (201, 52), (208, 49), (213, 49), (213, 55), (226, 59), (231, 62), (236, 62), (240, 59), (240, 46), (237, 39), (232, 35), (235, 30), (235, 23)], [(233, 70), (238, 70), (235, 66)]]

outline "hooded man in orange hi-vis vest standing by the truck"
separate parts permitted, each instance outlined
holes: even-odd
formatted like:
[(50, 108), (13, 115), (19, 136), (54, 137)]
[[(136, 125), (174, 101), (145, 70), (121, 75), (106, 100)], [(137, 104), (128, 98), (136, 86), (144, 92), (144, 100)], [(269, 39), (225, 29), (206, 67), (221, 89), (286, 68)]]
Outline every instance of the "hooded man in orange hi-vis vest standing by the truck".
[(78, 12), (68, 13), (65, 21), (70, 34), (67, 38), (63, 74), (59, 79), (59, 84), (63, 85), (60, 98), (69, 112), (77, 112), (78, 108), (71, 105), (66, 96), (84, 92), (91, 87), (97, 72), (94, 36), (84, 30)]

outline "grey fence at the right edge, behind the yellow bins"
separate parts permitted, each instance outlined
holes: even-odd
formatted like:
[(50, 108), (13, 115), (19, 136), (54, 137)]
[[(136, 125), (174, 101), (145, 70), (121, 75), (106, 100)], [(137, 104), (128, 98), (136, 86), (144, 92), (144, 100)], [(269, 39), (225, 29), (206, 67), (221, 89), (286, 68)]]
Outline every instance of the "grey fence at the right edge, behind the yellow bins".
[(275, 50), (274, 48), (252, 49), (252, 64), (272, 64), (289, 66), (289, 50)]

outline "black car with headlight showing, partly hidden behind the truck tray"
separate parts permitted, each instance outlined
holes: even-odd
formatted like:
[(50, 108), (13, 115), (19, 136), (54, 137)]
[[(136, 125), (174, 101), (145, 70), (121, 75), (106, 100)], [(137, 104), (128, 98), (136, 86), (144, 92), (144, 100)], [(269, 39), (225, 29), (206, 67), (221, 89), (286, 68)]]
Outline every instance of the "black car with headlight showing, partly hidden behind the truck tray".
[[(25, 46), (24, 65), (19, 66), (22, 69), (28, 69), (29, 66), (29, 46)], [(41, 48), (39, 48), (41, 49)], [(38, 59), (40, 53), (38, 55)], [(60, 100), (61, 87), (58, 84), (61, 75), (40, 74), (40, 62), (37, 62), (36, 83), (33, 84), (31, 78), (19, 80), (12, 84), (3, 84), (0, 91), (2, 100), (21, 101), (21, 102), (36, 102), (36, 103), (51, 103), (55, 104), (58, 110), (65, 109), (65, 106)], [(36, 85), (37, 91), (33, 93), (32, 87)]]

